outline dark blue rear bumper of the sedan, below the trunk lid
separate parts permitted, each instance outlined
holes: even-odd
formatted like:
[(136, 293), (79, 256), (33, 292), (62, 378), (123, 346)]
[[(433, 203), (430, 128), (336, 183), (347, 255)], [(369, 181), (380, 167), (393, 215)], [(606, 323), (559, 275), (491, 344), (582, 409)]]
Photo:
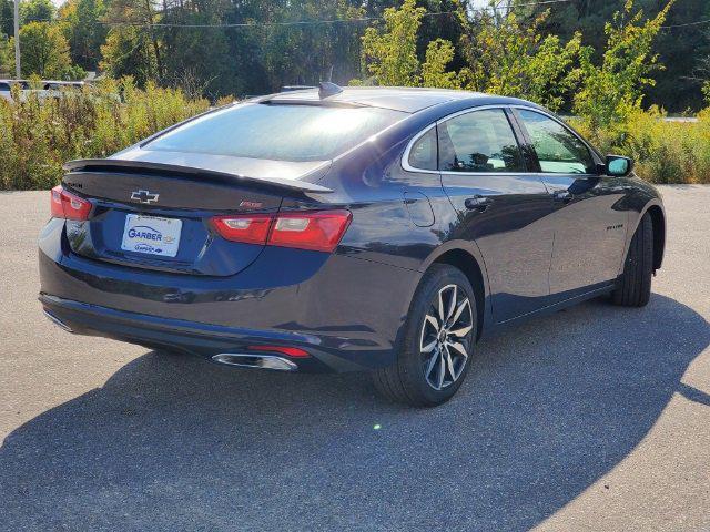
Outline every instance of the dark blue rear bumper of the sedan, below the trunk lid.
[[(40, 301), (73, 332), (205, 358), (252, 345), (300, 347), (300, 371), (395, 360), (418, 272), (315, 252), (266, 249), (231, 277), (129, 268), (79, 257), (50, 223), (40, 236)], [(58, 234), (59, 233), (59, 234)]]

